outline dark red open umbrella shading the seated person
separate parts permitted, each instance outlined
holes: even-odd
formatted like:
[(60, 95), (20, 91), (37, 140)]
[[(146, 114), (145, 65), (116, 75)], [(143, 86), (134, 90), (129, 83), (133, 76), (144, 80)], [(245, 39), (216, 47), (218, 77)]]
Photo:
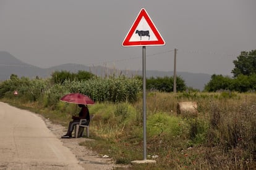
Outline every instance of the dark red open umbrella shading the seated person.
[(93, 105), (93, 100), (87, 95), (80, 93), (70, 93), (66, 94), (60, 99), (63, 102), (75, 103), (75, 104), (83, 104), (83, 105)]

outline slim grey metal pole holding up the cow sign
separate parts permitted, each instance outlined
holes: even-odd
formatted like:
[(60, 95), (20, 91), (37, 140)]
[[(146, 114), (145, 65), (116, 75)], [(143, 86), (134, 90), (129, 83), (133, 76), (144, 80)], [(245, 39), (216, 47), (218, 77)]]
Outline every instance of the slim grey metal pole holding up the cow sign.
[(142, 70), (143, 70), (143, 156), (147, 160), (147, 139), (146, 139), (146, 47), (142, 47)]

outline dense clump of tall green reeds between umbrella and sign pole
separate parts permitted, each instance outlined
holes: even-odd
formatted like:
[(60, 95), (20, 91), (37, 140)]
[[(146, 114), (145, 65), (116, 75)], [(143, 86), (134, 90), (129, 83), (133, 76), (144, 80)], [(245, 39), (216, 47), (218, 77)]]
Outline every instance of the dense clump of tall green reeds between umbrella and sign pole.
[(139, 79), (126, 78), (92, 78), (87, 81), (64, 81), (70, 92), (80, 92), (98, 102), (135, 102), (141, 91)]

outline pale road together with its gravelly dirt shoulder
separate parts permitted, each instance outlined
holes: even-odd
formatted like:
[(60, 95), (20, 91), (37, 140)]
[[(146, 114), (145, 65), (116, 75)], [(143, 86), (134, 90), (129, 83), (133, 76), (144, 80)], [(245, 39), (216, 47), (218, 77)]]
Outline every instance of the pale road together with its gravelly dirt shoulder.
[(27, 110), (0, 102), (0, 169), (113, 169), (79, 145), (91, 139), (60, 139), (65, 128)]

